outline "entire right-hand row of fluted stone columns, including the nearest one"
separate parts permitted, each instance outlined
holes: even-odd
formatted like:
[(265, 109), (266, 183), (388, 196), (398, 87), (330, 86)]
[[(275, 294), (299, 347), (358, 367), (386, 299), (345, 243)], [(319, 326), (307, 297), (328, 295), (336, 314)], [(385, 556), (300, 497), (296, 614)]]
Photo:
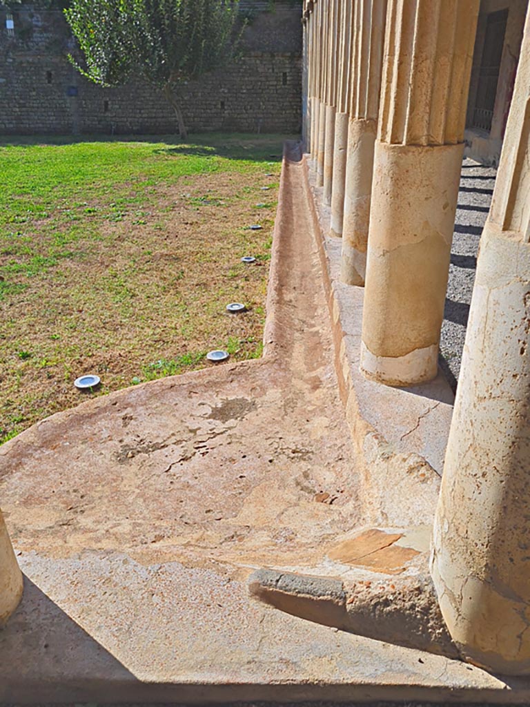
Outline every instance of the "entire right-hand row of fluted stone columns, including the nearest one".
[[(478, 9), (479, 0), (305, 3), (308, 146), (319, 183), (331, 179), (324, 201), (331, 194), (341, 279), (365, 286), (361, 370), (387, 385), (437, 375)], [(512, 674), (530, 674), (529, 22), (481, 239), (431, 556), (462, 657)], [(336, 46), (346, 66), (332, 69)], [(338, 111), (334, 122), (323, 117), (328, 108)]]

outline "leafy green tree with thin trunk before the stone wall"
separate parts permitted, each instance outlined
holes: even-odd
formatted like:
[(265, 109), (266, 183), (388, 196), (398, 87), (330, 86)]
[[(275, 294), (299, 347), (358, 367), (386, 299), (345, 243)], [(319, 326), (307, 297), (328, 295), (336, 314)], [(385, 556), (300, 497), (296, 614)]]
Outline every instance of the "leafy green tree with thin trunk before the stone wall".
[(237, 44), (238, 0), (72, 0), (64, 11), (83, 54), (71, 62), (100, 86), (142, 76), (172, 105), (187, 136), (179, 86), (225, 64)]

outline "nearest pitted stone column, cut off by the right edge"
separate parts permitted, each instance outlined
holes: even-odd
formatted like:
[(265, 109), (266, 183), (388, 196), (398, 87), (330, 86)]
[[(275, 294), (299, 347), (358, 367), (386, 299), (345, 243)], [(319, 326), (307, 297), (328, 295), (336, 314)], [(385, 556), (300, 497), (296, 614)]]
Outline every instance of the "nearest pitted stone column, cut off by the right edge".
[(431, 573), (467, 660), (530, 674), (530, 16), (481, 238)]

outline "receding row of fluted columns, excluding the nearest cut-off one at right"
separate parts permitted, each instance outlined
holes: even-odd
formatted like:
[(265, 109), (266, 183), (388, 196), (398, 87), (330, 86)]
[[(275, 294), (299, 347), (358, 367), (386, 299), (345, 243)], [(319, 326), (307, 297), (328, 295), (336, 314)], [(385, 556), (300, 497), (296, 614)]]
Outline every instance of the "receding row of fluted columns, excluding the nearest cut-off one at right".
[(307, 4), (317, 185), (341, 280), (366, 287), (361, 368), (388, 385), (437, 375), (478, 6)]

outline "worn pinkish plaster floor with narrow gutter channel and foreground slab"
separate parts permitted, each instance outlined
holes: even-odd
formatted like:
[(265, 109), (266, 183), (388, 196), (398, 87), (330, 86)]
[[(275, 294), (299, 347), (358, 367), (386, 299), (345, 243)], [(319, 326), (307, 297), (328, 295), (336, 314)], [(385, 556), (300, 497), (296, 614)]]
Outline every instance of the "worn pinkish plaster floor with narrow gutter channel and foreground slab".
[(255, 568), (340, 574), (330, 551), (369, 522), (308, 199), (285, 160), (264, 359), (94, 399), (0, 448), (25, 574), (0, 701), (530, 700), (526, 681), (249, 598)]

